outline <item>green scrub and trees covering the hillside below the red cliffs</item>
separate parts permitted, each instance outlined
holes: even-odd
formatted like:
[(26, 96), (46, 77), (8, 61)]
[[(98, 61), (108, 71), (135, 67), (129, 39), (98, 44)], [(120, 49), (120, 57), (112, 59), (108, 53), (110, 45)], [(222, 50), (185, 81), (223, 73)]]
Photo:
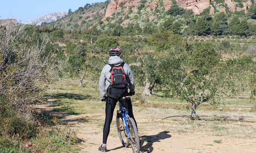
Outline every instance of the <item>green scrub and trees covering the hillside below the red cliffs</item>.
[[(115, 5), (111, 5), (112, 3)], [(224, 1), (211, 1), (209, 8), (205, 8), (200, 14), (195, 14), (192, 9), (184, 9), (179, 6), (185, 2), (179, 1), (179, 5), (177, 5), (177, 2), (173, 0), (171, 3), (170, 8), (164, 7), (163, 0), (156, 2), (141, 0), (136, 5), (115, 1), (87, 4), (74, 12), (70, 11), (65, 18), (46, 25), (76, 31), (84, 31), (89, 28), (98, 34), (109, 35), (111, 32), (112, 35), (147, 35), (171, 30), (183, 36), (239, 35), (246, 37), (254, 36), (256, 31), (256, 5), (254, 2), (247, 2), (250, 4), (246, 5), (247, 10), (232, 11)], [(242, 1), (233, 3), (236, 4), (235, 8), (246, 4)], [(224, 11), (218, 9), (223, 7)], [(109, 9), (112, 10), (108, 11)]]

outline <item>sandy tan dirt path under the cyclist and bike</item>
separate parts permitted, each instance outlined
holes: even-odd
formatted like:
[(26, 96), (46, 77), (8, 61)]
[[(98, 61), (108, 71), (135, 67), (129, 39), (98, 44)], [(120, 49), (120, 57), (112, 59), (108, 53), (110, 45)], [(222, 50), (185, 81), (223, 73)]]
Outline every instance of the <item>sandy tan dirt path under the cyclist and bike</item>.
[[(67, 113), (52, 111), (54, 105), (39, 105), (37, 108), (42, 112), (49, 114), (56, 113), (62, 117), (63, 123), (71, 124), (72, 128), (78, 130), (78, 137), (82, 140), (79, 145), (81, 153), (97, 153), (99, 145), (102, 143), (102, 122), (105, 114), (84, 114), (69, 115)], [(137, 114), (136, 114), (137, 115)], [(195, 131), (194, 133), (177, 134), (169, 131), (163, 131), (154, 126), (143, 127), (145, 118), (138, 114), (136, 121), (141, 132), (142, 147), (144, 153), (254, 153), (256, 152), (255, 139), (226, 138), (225, 136), (210, 136), (209, 133)], [(90, 118), (96, 118), (90, 120)], [(99, 123), (101, 124), (99, 126)], [(167, 123), (168, 124), (168, 123)], [(177, 123), (178, 124), (178, 123)], [(253, 123), (254, 126), (256, 123)], [(110, 135), (107, 141), (108, 152), (112, 153), (132, 153), (131, 148), (123, 148), (120, 139), (117, 137), (115, 119), (113, 118)], [(142, 127), (142, 128), (140, 128)], [(213, 143), (214, 140), (222, 140), (221, 143)]]

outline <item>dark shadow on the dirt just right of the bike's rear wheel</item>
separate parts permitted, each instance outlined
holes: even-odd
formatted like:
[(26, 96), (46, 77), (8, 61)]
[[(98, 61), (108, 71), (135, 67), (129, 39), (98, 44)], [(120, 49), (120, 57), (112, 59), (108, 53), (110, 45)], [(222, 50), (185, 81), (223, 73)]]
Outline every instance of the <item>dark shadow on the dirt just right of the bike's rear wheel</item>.
[(141, 136), (141, 147), (140, 151), (143, 153), (150, 153), (153, 151), (153, 143), (159, 142), (160, 140), (171, 138), (172, 136), (167, 134), (169, 131), (163, 131), (158, 133), (157, 135), (143, 135)]

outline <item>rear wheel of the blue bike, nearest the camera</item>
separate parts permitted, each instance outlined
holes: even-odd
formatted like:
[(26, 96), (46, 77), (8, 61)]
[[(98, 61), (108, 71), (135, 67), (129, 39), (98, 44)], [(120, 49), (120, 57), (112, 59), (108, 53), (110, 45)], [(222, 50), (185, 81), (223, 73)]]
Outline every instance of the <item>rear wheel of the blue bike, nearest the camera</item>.
[(128, 119), (128, 129), (130, 134), (130, 144), (134, 153), (140, 153), (140, 138), (133, 118)]

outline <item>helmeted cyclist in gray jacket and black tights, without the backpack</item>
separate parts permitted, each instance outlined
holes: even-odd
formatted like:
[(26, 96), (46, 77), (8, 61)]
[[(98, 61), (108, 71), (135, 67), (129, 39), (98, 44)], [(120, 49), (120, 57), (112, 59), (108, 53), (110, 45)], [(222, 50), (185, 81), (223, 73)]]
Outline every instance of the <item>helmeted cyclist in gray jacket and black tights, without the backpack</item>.
[[(106, 64), (100, 74), (99, 77), (99, 93), (101, 96), (101, 101), (106, 101), (106, 118), (105, 124), (103, 127), (103, 144), (100, 145), (99, 151), (106, 152), (106, 142), (109, 135), (110, 123), (113, 118), (113, 112), (116, 107), (116, 103), (118, 101), (124, 102), (124, 96), (131, 96), (135, 94), (135, 85), (134, 85), (134, 76), (133, 72), (128, 66), (128, 64), (124, 63), (123, 59), (120, 58), (121, 50), (119, 48), (111, 48), (109, 50), (109, 60), (108, 64)], [(113, 67), (122, 67), (125, 73), (125, 85), (119, 85), (119, 87), (113, 86), (113, 82), (111, 83), (111, 71)], [(128, 89), (130, 92), (128, 93)], [(129, 116), (134, 119), (133, 116), (133, 108), (132, 102), (130, 99), (127, 100), (127, 109), (129, 112)], [(134, 119), (135, 121), (135, 119)], [(135, 121), (136, 124), (136, 121)], [(137, 124), (136, 124), (137, 127)]]

